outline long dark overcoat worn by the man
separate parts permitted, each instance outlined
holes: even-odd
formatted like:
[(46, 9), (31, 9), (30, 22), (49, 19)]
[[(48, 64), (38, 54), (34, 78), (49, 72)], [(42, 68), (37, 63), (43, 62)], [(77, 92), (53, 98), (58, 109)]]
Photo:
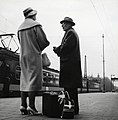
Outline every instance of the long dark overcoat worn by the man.
[(54, 52), (60, 57), (60, 87), (81, 88), (79, 37), (73, 28), (65, 32), (61, 45), (55, 48)]

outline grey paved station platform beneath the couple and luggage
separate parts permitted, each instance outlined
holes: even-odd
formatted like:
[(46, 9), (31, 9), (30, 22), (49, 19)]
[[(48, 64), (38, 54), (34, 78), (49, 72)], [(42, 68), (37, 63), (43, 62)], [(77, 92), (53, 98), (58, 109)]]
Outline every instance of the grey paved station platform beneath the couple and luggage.
[[(118, 93), (79, 94), (80, 114), (75, 120), (118, 120)], [(0, 120), (62, 120), (47, 116), (21, 115), (20, 98), (0, 98)], [(36, 107), (42, 112), (42, 97), (36, 97)]]

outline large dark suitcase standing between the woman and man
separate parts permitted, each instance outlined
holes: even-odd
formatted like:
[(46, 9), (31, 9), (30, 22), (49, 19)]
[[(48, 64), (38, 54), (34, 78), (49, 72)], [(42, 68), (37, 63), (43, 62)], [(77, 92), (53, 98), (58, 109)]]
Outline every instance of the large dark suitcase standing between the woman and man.
[(42, 113), (48, 117), (60, 118), (63, 104), (58, 102), (58, 93), (45, 92), (42, 97)]

